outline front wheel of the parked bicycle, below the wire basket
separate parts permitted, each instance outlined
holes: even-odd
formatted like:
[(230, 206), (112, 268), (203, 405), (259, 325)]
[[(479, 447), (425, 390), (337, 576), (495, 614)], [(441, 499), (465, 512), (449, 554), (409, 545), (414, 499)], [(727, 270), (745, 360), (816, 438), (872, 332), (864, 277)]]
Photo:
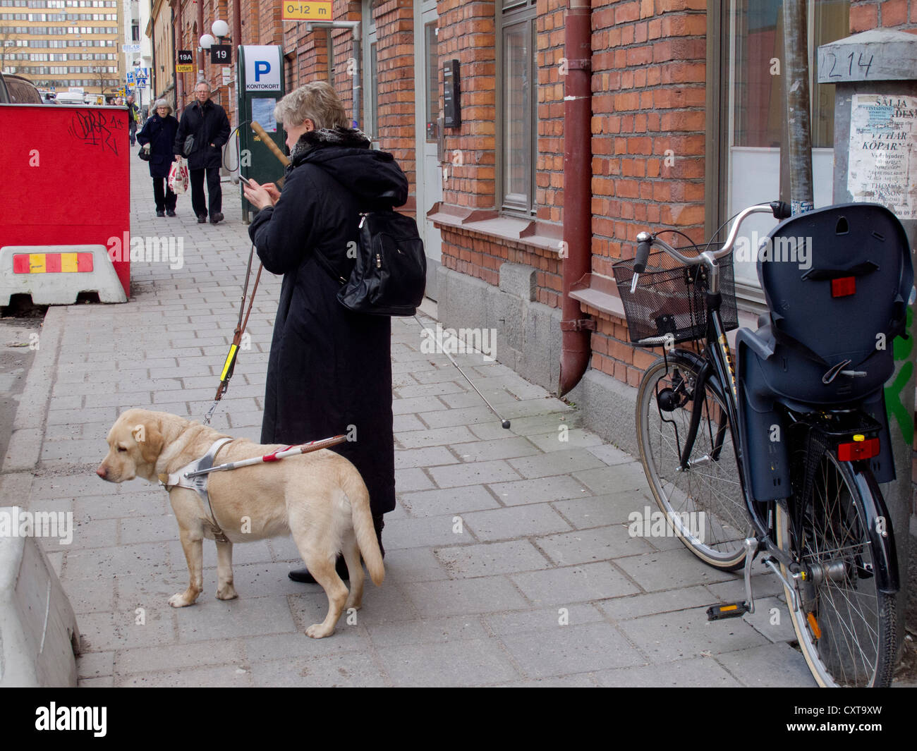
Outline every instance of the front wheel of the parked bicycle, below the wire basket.
[(668, 525), (705, 563), (733, 570), (752, 534), (724, 397), (707, 381), (701, 424), (688, 469), (680, 454), (688, 435), (698, 366), (678, 353), (658, 359), (636, 400), (636, 436), (646, 480)]

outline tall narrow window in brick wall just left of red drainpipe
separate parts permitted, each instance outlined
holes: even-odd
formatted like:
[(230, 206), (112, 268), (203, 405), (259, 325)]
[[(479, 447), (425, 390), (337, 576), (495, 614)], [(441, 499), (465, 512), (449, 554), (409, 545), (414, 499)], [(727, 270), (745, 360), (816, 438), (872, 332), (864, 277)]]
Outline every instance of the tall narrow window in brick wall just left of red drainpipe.
[(503, 0), (498, 19), (501, 208), (534, 215), (537, 139), (536, 6)]

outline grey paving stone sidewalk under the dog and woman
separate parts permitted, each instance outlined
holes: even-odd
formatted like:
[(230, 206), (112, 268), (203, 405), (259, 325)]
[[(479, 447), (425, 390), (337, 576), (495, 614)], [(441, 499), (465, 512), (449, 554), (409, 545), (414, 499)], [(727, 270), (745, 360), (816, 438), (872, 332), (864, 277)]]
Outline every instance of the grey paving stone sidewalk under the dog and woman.
[[(234, 547), (231, 602), (215, 599), (205, 542), (204, 592), (172, 609), (187, 569), (165, 491), (94, 469), (124, 409), (200, 419), (209, 407), (250, 246), (237, 186), (223, 183), (225, 223), (197, 225), (190, 196), (156, 218), (146, 165), (131, 170), (133, 237), (182, 238), (182, 265), (133, 263), (127, 304), (49, 310), (0, 475), (5, 503), (74, 514), (72, 545), (43, 546), (83, 635), (81, 686), (813, 685), (789, 617), (770, 624), (776, 578), (757, 577), (755, 615), (708, 623), (705, 608), (741, 597), (741, 580), (675, 538), (628, 535), (628, 514), (652, 505), (639, 462), (512, 370), (460, 356), (512, 420), (503, 430), (444, 355), (422, 351), (413, 318), (392, 326), (386, 579), (368, 580), (357, 622), (304, 635), (326, 597), (287, 579), (301, 565), (289, 538)], [(260, 436), (279, 289), (262, 275), (250, 348), (215, 413), (234, 436)]]

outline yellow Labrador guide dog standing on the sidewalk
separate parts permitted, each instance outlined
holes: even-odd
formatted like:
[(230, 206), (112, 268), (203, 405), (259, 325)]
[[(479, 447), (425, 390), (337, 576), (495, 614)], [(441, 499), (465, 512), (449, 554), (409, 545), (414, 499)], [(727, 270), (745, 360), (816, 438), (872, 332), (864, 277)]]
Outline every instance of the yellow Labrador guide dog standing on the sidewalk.
[[(168, 475), (174, 479), (179, 469), (204, 457), (225, 437), (175, 414), (131, 409), (109, 431), (108, 455), (96, 473), (109, 482), (135, 477), (155, 482)], [(260, 457), (280, 448), (235, 439), (220, 447), (213, 464)], [(233, 543), (292, 533), (305, 565), (328, 596), (325, 620), (305, 632), (316, 639), (334, 632), (344, 609), (359, 608), (360, 554), (373, 583), (382, 583), (385, 569), (372, 525), (370, 493), (348, 459), (323, 448), (282, 461), (211, 472), (207, 478), (209, 507), (196, 490), (172, 486), (169, 491), (190, 574), (188, 589), (169, 599), (172, 607), (191, 605), (201, 593), (204, 537), (216, 540), (216, 596), (232, 600), (238, 597), (232, 580)], [(350, 572), (349, 594), (335, 570), (338, 552)]]

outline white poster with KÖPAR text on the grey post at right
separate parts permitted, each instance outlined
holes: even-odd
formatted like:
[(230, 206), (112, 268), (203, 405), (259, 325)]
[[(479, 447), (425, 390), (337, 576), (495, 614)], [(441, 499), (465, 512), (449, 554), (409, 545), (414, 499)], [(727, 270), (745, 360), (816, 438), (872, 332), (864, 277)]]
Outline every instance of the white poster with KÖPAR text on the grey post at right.
[(853, 95), (847, 190), (917, 219), (917, 96)]

